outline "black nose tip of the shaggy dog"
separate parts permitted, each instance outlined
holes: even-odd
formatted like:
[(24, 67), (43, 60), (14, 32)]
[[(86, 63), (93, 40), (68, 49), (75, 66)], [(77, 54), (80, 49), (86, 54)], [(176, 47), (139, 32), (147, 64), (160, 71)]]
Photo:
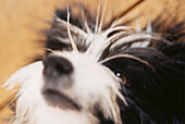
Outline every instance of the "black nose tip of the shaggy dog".
[(49, 55), (45, 59), (44, 65), (44, 75), (48, 77), (58, 77), (73, 72), (72, 63), (62, 57)]

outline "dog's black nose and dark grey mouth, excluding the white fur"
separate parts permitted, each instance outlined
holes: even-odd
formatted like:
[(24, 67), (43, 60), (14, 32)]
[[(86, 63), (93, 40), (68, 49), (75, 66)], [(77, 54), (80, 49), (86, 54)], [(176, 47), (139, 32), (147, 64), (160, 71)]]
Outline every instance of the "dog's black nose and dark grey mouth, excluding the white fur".
[(61, 57), (49, 55), (44, 61), (42, 95), (49, 106), (79, 110), (81, 107), (65, 91), (73, 86), (73, 65)]

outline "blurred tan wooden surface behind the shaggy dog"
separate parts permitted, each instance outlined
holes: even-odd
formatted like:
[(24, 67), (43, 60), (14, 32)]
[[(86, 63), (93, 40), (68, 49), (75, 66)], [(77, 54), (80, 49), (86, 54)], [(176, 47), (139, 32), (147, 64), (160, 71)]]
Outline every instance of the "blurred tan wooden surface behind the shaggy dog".
[[(55, 8), (74, 1), (84, 3), (91, 13), (97, 11), (98, 0), (0, 0), (0, 85), (18, 67), (29, 63), (36, 54), (44, 53), (38, 40), (45, 37), (37, 30), (49, 28), (45, 21), (51, 20)], [(100, 1), (102, 7), (104, 1)], [(185, 3), (185, 0), (138, 1), (108, 0), (104, 23), (125, 12), (128, 18), (141, 14), (138, 22), (143, 27), (149, 18), (153, 20), (163, 12), (164, 8), (178, 9), (180, 1)], [(182, 17), (184, 16), (180, 16)], [(5, 91), (0, 87), (0, 119), (11, 113), (3, 107), (12, 95), (13, 91)]]

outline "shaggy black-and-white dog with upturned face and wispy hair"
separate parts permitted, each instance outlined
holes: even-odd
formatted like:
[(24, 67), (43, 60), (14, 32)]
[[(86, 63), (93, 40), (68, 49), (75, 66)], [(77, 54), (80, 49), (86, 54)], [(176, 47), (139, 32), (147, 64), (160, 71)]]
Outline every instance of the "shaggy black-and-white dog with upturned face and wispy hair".
[(103, 27), (104, 13), (82, 13), (76, 17), (71, 9), (58, 9), (45, 32), (45, 57), (4, 84), (20, 85), (11, 121), (185, 123), (185, 22), (166, 26), (159, 16), (140, 29), (122, 25), (121, 17)]

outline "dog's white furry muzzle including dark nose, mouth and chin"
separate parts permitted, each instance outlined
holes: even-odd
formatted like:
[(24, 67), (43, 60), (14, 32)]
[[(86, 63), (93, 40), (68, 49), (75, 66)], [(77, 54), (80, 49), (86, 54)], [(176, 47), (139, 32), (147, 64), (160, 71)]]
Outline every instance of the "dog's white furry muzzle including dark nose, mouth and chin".
[(121, 78), (87, 54), (54, 52), (28, 67), (35, 74), (24, 80), (17, 102), (29, 123), (98, 123), (98, 114), (120, 121)]

